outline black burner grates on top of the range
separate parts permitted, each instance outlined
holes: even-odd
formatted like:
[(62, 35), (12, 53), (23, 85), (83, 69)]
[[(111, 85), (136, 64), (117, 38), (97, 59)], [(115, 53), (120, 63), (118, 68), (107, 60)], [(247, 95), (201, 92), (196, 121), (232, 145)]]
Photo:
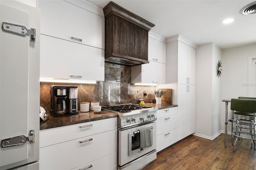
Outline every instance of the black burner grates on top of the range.
[(132, 105), (132, 104), (126, 104), (126, 105), (112, 105), (112, 106), (104, 106), (103, 109), (111, 110), (111, 111), (117, 111), (120, 113), (127, 112), (127, 111), (134, 111), (138, 109), (146, 109), (151, 108), (147, 106), (140, 106), (140, 105)]

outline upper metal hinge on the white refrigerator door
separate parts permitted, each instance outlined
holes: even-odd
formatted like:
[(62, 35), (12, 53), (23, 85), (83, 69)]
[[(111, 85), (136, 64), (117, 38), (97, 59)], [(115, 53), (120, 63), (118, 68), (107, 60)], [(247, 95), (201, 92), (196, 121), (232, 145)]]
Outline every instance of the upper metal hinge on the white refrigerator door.
[(16, 24), (3, 22), (2, 30), (12, 32), (14, 34), (19, 34), (24, 37), (27, 35), (30, 35), (30, 41), (36, 42), (36, 29), (34, 28), (31, 28), (31, 30), (28, 30), (25, 26), (19, 26)]

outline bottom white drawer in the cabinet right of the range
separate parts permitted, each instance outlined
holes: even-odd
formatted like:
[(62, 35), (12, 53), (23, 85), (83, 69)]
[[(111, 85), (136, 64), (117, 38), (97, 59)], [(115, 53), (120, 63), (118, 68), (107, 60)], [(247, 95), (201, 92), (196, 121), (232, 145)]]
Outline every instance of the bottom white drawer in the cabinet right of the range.
[(177, 142), (177, 128), (156, 136), (156, 150), (159, 152), (175, 142)]

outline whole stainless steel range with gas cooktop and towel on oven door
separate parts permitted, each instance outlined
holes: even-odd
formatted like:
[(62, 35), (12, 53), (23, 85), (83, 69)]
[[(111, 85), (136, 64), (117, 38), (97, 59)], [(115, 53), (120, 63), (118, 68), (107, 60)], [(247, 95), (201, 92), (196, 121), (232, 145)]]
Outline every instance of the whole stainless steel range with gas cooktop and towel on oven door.
[(156, 111), (140, 105), (105, 106), (118, 113), (118, 169), (142, 169), (156, 159)]

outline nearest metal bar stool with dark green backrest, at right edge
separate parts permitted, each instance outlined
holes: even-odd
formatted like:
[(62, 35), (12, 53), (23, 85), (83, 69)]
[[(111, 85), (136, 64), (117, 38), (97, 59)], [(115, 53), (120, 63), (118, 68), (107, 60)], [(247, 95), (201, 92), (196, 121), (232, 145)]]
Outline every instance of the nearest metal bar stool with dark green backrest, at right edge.
[[(234, 152), (236, 152), (236, 142), (239, 138), (251, 140), (251, 148), (256, 146), (255, 134), (255, 114), (256, 114), (256, 100), (255, 99), (231, 99), (230, 109), (232, 111), (233, 123), (232, 127), (232, 143), (234, 145)], [(241, 134), (244, 134), (240, 136)], [(236, 139), (236, 140), (234, 140)]]

